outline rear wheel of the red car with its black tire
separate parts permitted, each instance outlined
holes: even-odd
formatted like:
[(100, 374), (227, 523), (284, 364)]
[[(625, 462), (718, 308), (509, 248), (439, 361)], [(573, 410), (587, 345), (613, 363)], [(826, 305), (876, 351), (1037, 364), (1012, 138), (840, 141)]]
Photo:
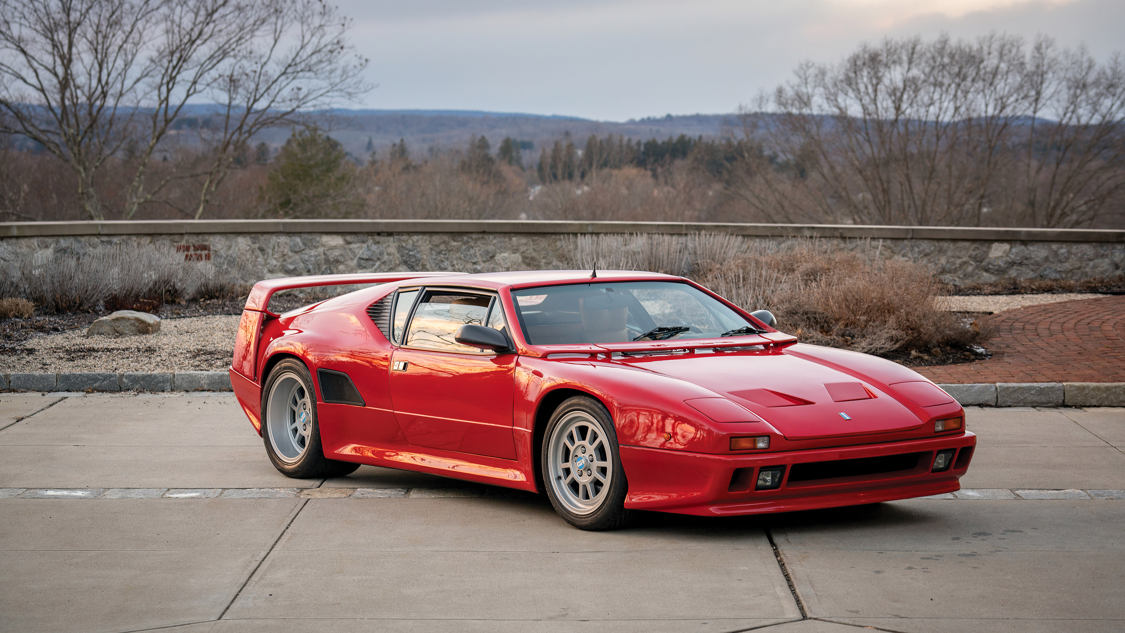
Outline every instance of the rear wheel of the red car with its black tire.
[[(284, 384), (279, 384), (282, 382)], [(274, 390), (278, 390), (277, 394)], [(295, 412), (299, 410), (307, 416), (306, 421), (297, 422), (297, 427), (304, 428), (306, 433), (298, 430), (292, 434), (288, 430), (291, 425), (286, 424), (286, 420), (295, 418), (284, 417), (288, 416), (288, 409), (282, 414), (280, 401), (274, 400), (271, 403), (271, 395), (285, 398), (286, 403), (297, 399), (299, 404)], [(286, 428), (281, 428), (282, 426)], [(273, 467), (294, 479), (344, 476), (360, 466), (324, 456), (313, 377), (305, 364), (295, 358), (286, 358), (278, 363), (262, 385), (262, 440), (266, 443), (266, 454), (273, 462)]]

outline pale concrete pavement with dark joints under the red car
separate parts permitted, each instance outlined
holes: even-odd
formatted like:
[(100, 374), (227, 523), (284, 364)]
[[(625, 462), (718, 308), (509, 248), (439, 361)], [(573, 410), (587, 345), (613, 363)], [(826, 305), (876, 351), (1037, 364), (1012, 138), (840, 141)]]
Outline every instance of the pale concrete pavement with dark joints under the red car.
[[(435, 475), (287, 479), (226, 394), (3, 394), (0, 631), (1125, 628), (1125, 409), (968, 414), (962, 484), (1005, 500), (586, 533), (541, 497)], [(93, 489), (171, 498), (65, 496)]]

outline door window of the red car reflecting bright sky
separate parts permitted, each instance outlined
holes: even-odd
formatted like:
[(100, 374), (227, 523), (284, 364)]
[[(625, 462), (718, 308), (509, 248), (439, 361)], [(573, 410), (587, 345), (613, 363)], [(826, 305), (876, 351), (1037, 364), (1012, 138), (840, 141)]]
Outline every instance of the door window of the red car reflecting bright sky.
[(466, 324), (484, 326), (488, 318), (490, 296), (453, 291), (426, 291), (414, 310), (406, 344), (450, 351), (477, 351), (453, 340), (457, 329)]

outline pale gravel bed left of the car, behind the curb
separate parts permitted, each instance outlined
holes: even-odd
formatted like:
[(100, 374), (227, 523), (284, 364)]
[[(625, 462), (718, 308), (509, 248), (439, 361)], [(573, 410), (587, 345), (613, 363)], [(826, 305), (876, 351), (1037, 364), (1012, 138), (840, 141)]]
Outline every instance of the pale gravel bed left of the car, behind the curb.
[(236, 314), (164, 319), (160, 332), (86, 336), (86, 329), (32, 338), (0, 350), (0, 371), (214, 372), (231, 367)]

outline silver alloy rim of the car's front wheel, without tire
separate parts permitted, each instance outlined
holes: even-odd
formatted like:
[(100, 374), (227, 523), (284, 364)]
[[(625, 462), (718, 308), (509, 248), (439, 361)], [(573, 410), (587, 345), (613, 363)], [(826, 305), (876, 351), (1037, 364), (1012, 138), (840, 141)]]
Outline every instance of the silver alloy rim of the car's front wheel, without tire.
[(547, 443), (551, 487), (576, 515), (597, 510), (613, 478), (613, 453), (605, 429), (585, 411), (567, 413)]

